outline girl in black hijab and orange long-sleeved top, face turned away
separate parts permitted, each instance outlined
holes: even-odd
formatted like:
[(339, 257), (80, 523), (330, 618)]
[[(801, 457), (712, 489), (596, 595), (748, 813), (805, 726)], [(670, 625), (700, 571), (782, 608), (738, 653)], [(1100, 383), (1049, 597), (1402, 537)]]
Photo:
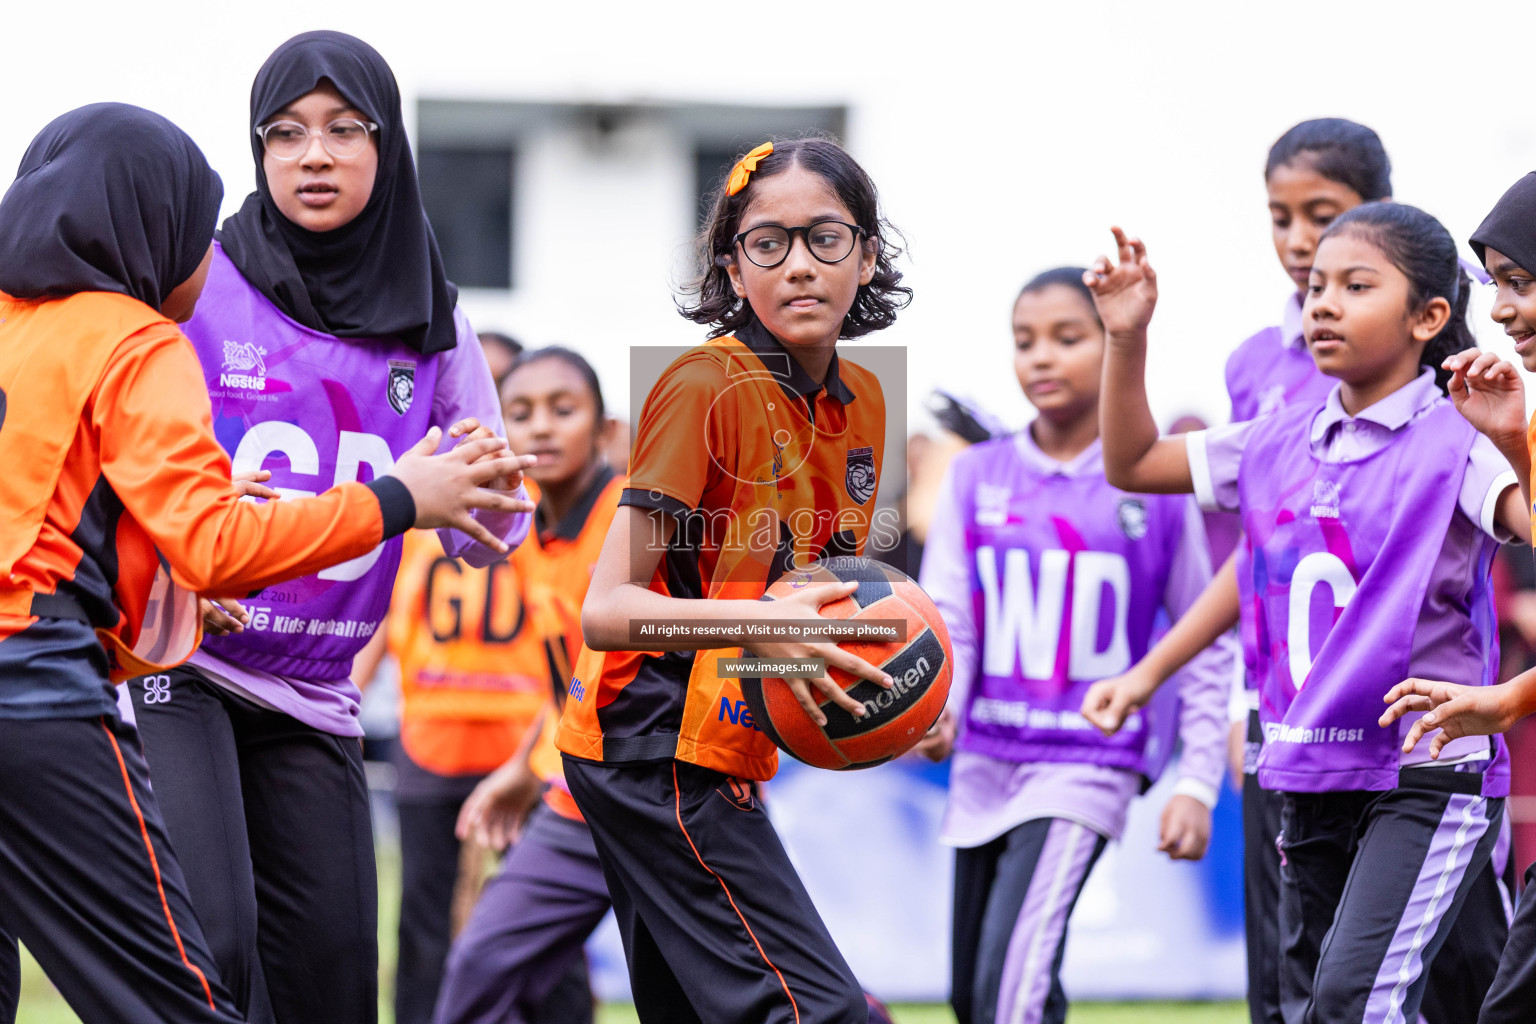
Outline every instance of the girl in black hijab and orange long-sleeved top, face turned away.
[(221, 195), (180, 129), (101, 103), (49, 124), (0, 201), (0, 927), (86, 1024), (244, 1019), (111, 683), (187, 657), (192, 590), (513, 508), (476, 482), (516, 461), (470, 465), (496, 442), (427, 457), (435, 436), (367, 485), (240, 500), (172, 322), (204, 287)]

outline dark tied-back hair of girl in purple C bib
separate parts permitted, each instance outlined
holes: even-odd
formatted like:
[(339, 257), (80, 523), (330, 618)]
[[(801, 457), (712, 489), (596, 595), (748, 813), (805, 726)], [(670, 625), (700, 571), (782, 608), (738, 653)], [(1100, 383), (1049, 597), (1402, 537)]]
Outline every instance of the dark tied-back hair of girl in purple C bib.
[(1441, 370), (1448, 356), (1476, 345), (1467, 324), (1471, 278), (1461, 267), (1456, 243), (1438, 220), (1407, 203), (1366, 203), (1329, 224), (1318, 239), (1356, 235), (1376, 246), (1409, 279), (1409, 312), (1424, 309), (1430, 299), (1450, 302), (1450, 319), (1430, 338), (1419, 355), (1419, 365), (1435, 370), (1435, 382), (1447, 390), (1450, 372)]

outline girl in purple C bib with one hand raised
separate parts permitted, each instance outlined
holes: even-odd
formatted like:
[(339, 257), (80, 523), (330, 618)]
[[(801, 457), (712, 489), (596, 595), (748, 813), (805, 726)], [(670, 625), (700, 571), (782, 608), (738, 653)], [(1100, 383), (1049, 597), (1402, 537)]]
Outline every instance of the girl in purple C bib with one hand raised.
[(1376, 725), (1379, 692), (1410, 676), (1491, 680), (1488, 565), (1530, 530), (1504, 456), (1436, 382), (1470, 341), (1455, 243), (1402, 204), (1341, 216), (1303, 309), (1318, 368), (1339, 381), (1327, 401), (1160, 441), (1143, 379), (1157, 278), (1141, 243), (1115, 236), (1120, 264), (1087, 278), (1111, 335), (1109, 479), (1193, 491), (1247, 534), (1258, 780), (1283, 794), (1284, 1016), (1413, 1021), (1424, 967), (1491, 855), (1508, 765), (1481, 737), (1439, 765), (1427, 743), (1401, 752)]

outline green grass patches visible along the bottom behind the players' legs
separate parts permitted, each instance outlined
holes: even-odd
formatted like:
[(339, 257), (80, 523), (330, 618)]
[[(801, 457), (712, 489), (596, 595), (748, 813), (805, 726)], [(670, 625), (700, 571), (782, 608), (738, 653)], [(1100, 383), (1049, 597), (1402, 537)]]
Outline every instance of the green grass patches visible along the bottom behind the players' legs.
[[(395, 975), (395, 927), (399, 910), (399, 858), (379, 857), (379, 1024), (395, 1024), (389, 1004)], [(892, 1007), (897, 1024), (954, 1024), (948, 1006)], [(80, 1024), (41, 969), (23, 950), (22, 1006), (17, 1024)], [(1078, 1003), (1068, 1024), (1243, 1024), (1241, 1003)], [(634, 1024), (634, 1007), (604, 1006), (598, 1024)]]

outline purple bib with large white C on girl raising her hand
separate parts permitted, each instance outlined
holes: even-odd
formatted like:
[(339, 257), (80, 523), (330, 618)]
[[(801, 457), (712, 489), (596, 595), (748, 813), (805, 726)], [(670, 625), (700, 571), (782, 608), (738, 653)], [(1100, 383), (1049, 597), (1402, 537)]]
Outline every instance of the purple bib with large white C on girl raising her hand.
[[(1309, 445), (1316, 411), (1261, 419), (1238, 470), (1238, 588), (1264, 725), (1258, 778), (1296, 792), (1393, 789), (1399, 734), (1376, 720), (1385, 692), (1415, 674), (1421, 609), (1465, 616), (1471, 629), (1475, 611), (1452, 593), (1464, 582), (1435, 570), (1476, 430), (1439, 399), (1385, 448), (1322, 462)], [(1448, 682), (1485, 682), (1481, 662), (1462, 671)]]

